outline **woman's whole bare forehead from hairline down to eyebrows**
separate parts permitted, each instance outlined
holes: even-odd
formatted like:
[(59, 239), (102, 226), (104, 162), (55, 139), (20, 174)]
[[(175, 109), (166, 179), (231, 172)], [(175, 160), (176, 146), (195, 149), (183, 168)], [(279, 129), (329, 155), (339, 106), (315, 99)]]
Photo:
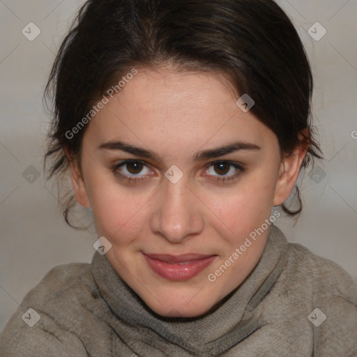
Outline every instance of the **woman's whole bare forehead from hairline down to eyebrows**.
[[(237, 139), (259, 142), (270, 132), (217, 73), (139, 70), (92, 119), (92, 142), (128, 139), (132, 143), (180, 150), (218, 146)], [(165, 149), (164, 148), (164, 149)]]

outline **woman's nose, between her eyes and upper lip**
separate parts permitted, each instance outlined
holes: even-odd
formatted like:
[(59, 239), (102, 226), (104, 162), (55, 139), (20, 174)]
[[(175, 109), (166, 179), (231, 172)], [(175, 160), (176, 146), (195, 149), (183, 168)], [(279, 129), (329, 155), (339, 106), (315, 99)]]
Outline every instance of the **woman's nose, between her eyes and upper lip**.
[(172, 243), (181, 243), (202, 232), (202, 207), (184, 179), (177, 183), (167, 180), (155, 202), (155, 211), (151, 215), (154, 234), (160, 234)]

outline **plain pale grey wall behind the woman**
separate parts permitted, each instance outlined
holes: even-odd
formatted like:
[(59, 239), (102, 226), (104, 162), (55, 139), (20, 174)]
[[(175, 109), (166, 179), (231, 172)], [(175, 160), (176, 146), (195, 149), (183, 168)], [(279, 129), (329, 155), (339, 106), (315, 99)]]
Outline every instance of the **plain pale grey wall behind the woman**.
[[(50, 121), (43, 90), (54, 55), (82, 3), (0, 0), (0, 329), (50, 268), (90, 262), (98, 238), (93, 226), (85, 231), (67, 227), (55, 186), (45, 182), (42, 169)], [(304, 203), (298, 222), (282, 217), (275, 225), (289, 241), (332, 259), (356, 279), (357, 1), (278, 3), (310, 57), (314, 124), (326, 160), (317, 161), (314, 172), (308, 168), (298, 181)], [(40, 29), (32, 41), (22, 33), (29, 22)], [(316, 22), (326, 29), (319, 40), (324, 29)]]

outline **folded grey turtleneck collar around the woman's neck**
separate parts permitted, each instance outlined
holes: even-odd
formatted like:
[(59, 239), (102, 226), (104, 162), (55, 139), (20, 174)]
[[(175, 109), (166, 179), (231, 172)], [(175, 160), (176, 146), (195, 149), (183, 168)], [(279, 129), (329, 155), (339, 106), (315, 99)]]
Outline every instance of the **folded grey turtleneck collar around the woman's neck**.
[[(91, 268), (100, 294), (119, 320), (134, 330), (135, 326), (142, 326), (160, 339), (192, 353), (207, 351), (214, 356), (259, 328), (254, 308), (280, 275), (286, 249), (284, 234), (272, 224), (263, 255), (252, 273), (213, 312), (198, 318), (175, 319), (155, 314), (98, 252), (93, 256)], [(153, 335), (151, 338), (155, 339)]]

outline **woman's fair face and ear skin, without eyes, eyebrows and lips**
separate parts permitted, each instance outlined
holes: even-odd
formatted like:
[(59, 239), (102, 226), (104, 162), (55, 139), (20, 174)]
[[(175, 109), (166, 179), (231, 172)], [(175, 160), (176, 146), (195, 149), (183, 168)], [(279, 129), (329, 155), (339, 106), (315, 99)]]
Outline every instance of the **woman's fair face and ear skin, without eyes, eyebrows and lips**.
[[(105, 257), (144, 303), (162, 316), (197, 317), (215, 310), (256, 266), (269, 229), (215, 282), (208, 281), (271, 216), (272, 207), (289, 197), (306, 149), (298, 145), (281, 160), (274, 132), (238, 108), (238, 98), (217, 73), (138, 70), (86, 128), (82, 172), (72, 160), (73, 190), (77, 202), (92, 209), (98, 236), (112, 243)], [(112, 140), (155, 151), (162, 162), (98, 149)], [(197, 151), (236, 140), (261, 149), (190, 160)], [(116, 172), (142, 181), (128, 183), (112, 171), (128, 159), (147, 166), (135, 171), (124, 165)], [(217, 182), (239, 170), (211, 165), (215, 160), (241, 163), (244, 170), (236, 179)], [(172, 165), (183, 172), (177, 183), (165, 177)], [(178, 282), (151, 271), (142, 252), (217, 257), (199, 275)]]

